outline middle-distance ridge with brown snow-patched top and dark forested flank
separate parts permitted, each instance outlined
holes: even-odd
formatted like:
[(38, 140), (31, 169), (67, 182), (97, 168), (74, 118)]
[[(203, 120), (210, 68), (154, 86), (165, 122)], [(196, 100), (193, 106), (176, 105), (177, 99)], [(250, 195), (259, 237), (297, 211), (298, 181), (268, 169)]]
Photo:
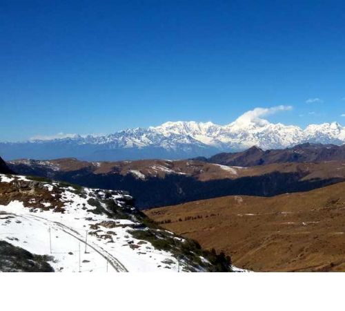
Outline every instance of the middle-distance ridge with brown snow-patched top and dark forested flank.
[(345, 180), (345, 160), (256, 167), (228, 167), (198, 160), (86, 162), (73, 158), (8, 164), (22, 175), (130, 191), (139, 209), (231, 194), (275, 196)]

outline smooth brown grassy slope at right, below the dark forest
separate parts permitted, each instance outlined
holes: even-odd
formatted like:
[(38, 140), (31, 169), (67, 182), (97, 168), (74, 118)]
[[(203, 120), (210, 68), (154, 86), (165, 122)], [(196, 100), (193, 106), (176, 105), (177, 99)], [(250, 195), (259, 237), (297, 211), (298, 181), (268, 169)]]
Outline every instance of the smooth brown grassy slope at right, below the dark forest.
[(345, 183), (271, 198), (226, 196), (145, 211), (261, 272), (345, 272)]

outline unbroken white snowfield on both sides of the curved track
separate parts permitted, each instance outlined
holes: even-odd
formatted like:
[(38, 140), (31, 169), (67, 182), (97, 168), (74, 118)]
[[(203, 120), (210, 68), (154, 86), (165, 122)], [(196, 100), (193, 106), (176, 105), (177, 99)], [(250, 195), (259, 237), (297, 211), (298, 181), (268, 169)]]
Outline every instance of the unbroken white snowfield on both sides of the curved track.
[[(177, 270), (177, 260), (168, 252), (154, 249), (150, 243), (140, 245), (132, 249), (130, 245), (137, 245), (135, 238), (132, 238), (126, 225), (134, 224), (130, 220), (117, 220), (117, 225), (124, 227), (105, 228), (99, 227), (97, 235), (91, 235), (90, 225), (101, 221), (109, 220), (106, 216), (95, 215), (81, 209), (75, 200), (75, 195), (66, 191), (70, 209), (64, 214), (54, 211), (32, 212), (23, 206), (22, 202), (12, 201), (9, 205), (0, 205), (1, 211), (6, 211), (0, 218), (1, 230), (0, 239), (6, 239), (15, 246), (27, 249), (34, 254), (51, 254), (54, 261), (50, 262), (56, 271), (75, 272), (79, 271), (79, 245), (81, 247), (81, 270), (82, 271), (108, 271), (118, 272), (150, 272), (157, 270)], [(14, 216), (14, 218), (6, 218)], [(96, 216), (96, 217), (95, 217)], [(86, 218), (92, 217), (92, 220)], [(51, 230), (49, 234), (49, 229)], [(86, 242), (86, 230), (88, 238)], [(99, 238), (103, 234), (112, 236), (110, 238)], [(50, 239), (52, 240), (52, 253), (50, 253)], [(132, 242), (131, 244), (128, 244)], [(85, 244), (88, 254), (85, 254)], [(72, 253), (69, 254), (69, 253)], [(165, 265), (161, 263), (169, 259), (174, 264)], [(83, 263), (82, 261), (90, 261)], [(126, 267), (122, 264), (126, 263)]]

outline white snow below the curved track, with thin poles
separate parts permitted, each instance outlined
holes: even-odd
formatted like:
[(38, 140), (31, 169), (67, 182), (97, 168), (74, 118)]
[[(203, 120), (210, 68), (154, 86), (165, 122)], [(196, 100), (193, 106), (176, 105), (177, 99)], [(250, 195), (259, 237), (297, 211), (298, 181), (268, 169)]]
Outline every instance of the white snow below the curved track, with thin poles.
[[(15, 203), (12, 207), (17, 209)], [(32, 254), (53, 256), (49, 263), (57, 272), (115, 271), (95, 249), (87, 247), (85, 252), (85, 243), (53, 222), (30, 214), (0, 214), (0, 221), (0, 239)]]

